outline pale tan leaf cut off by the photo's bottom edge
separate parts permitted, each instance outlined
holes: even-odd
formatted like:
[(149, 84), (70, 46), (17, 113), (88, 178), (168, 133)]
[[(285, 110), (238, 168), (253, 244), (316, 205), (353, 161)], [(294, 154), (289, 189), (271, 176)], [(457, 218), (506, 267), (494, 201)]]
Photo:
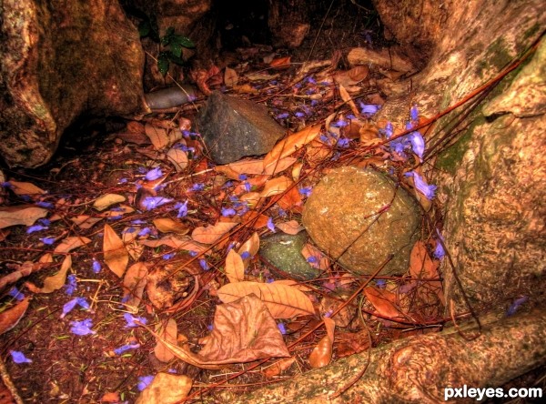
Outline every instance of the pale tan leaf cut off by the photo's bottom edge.
[(176, 404), (187, 398), (193, 380), (185, 375), (157, 373), (150, 385), (140, 393), (135, 404)]

